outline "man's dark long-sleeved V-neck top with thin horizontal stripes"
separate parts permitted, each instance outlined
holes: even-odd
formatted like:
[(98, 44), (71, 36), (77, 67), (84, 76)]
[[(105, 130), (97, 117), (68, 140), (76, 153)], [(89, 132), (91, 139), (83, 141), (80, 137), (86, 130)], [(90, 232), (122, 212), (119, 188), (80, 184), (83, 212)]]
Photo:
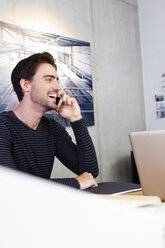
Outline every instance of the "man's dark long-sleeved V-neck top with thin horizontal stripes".
[[(83, 119), (71, 123), (76, 144), (58, 122), (43, 116), (36, 130), (13, 111), (0, 114), (0, 165), (50, 179), (54, 158), (77, 175), (98, 175), (95, 149)], [(75, 178), (54, 181), (80, 188)]]

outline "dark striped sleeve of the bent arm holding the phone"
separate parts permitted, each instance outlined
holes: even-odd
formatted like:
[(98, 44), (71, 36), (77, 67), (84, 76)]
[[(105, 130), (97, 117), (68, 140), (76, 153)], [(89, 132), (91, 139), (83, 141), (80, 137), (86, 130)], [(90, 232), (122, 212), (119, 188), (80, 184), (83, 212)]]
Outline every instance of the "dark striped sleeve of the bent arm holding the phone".
[(76, 144), (72, 142), (67, 131), (60, 126), (56, 143), (57, 158), (77, 175), (89, 172), (93, 177), (97, 177), (99, 169), (96, 152), (84, 120), (72, 122), (71, 127)]

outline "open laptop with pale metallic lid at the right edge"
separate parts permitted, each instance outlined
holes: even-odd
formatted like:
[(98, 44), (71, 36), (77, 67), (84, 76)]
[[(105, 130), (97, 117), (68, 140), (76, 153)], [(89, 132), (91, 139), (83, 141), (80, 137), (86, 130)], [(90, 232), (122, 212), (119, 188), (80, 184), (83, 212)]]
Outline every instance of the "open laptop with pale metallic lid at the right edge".
[(144, 195), (165, 201), (165, 130), (131, 132), (129, 137)]

